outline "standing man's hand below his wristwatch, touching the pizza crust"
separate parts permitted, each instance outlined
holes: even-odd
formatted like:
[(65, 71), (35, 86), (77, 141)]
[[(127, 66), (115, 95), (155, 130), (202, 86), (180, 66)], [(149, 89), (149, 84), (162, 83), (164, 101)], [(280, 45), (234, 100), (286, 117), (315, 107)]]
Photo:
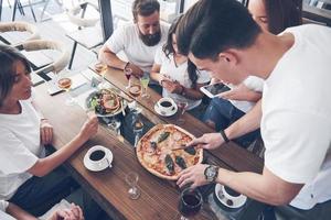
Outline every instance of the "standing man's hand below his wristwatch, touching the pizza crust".
[(190, 188), (194, 189), (199, 186), (209, 184), (204, 176), (204, 169), (207, 167), (207, 164), (196, 164), (190, 166), (182, 170), (177, 180), (177, 185), (182, 188), (185, 185), (190, 185)]

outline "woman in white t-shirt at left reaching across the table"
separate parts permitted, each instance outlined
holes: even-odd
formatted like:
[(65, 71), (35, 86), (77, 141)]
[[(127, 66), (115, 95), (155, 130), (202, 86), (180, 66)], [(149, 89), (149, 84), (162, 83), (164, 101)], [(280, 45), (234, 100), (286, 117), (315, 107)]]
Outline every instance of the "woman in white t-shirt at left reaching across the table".
[(53, 129), (32, 105), (30, 73), (22, 54), (0, 45), (0, 199), (39, 216), (71, 187), (68, 176), (55, 168), (97, 132), (98, 121), (90, 116), (70, 143), (44, 157)]

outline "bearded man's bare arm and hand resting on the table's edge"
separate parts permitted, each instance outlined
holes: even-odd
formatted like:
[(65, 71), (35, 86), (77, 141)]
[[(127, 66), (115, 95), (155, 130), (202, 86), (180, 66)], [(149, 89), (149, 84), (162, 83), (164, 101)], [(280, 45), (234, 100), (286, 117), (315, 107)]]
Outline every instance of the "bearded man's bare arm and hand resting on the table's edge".
[(113, 53), (106, 44), (102, 47), (99, 54), (98, 54), (99, 61), (103, 62), (104, 64), (107, 64), (108, 66), (118, 68), (118, 69), (125, 69), (131, 68), (132, 73), (137, 76), (142, 76), (143, 72), (140, 69), (138, 66), (135, 64), (129, 63), (127, 65), (127, 62), (121, 61), (115, 53)]

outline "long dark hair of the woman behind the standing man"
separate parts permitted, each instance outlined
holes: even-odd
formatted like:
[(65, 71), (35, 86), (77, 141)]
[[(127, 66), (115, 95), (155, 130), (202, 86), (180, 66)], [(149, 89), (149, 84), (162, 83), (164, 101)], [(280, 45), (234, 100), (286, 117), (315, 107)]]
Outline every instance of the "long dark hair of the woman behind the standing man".
[(302, 24), (302, 0), (264, 0), (269, 32), (279, 34)]

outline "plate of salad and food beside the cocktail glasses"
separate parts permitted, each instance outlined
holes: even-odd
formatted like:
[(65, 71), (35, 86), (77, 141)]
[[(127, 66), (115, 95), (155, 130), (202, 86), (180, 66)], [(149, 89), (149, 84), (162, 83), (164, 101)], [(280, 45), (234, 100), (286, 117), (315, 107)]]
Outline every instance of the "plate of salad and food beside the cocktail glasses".
[(86, 108), (94, 109), (97, 117), (114, 117), (128, 106), (127, 101), (111, 89), (100, 89), (86, 98)]

